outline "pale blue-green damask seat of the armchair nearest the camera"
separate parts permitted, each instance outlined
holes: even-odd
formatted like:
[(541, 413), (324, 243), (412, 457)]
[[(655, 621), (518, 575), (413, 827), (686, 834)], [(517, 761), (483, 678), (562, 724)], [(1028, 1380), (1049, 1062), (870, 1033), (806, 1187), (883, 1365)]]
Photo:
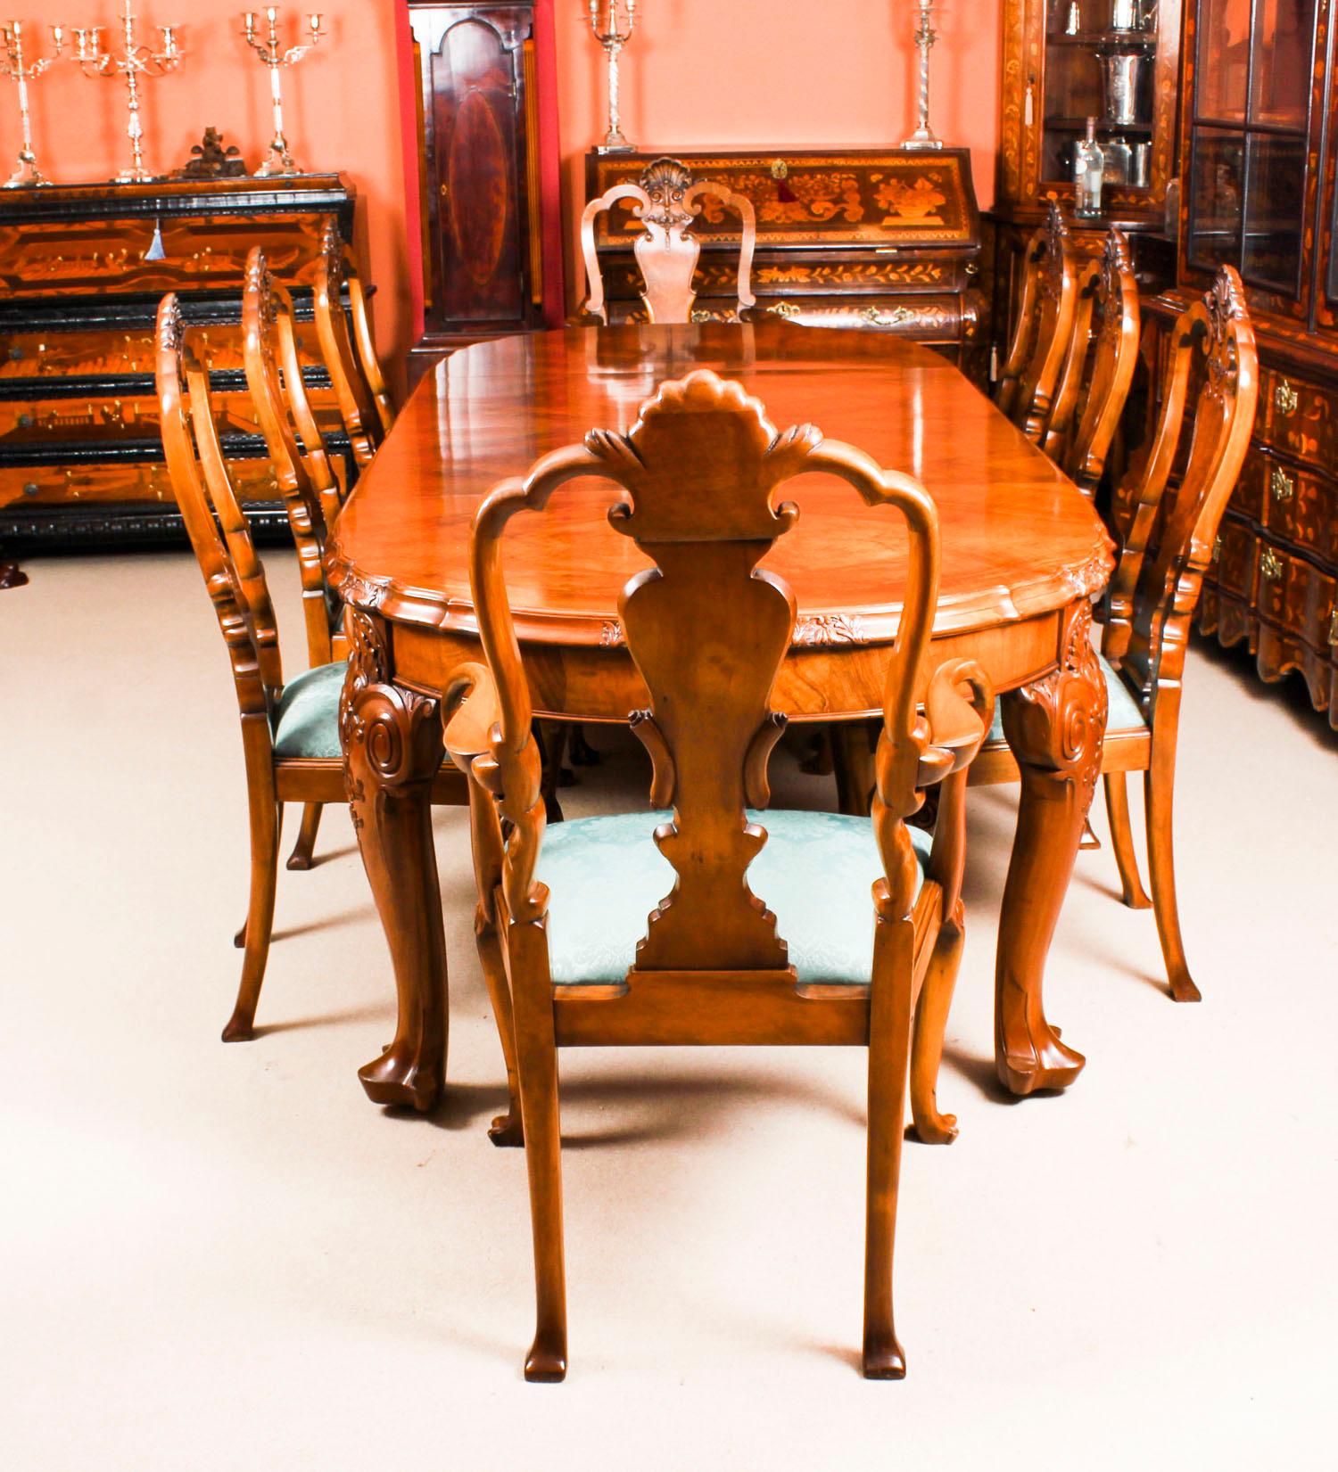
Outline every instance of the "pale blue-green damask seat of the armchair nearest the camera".
[[(548, 949), (555, 983), (621, 982), (646, 917), (674, 886), (652, 838), (671, 813), (617, 813), (551, 824), (534, 877), (549, 888)], [(839, 813), (749, 811), (767, 842), (748, 885), (776, 916), (801, 982), (868, 985), (871, 886), (883, 873), (870, 818)], [(907, 829), (924, 880), (932, 838)]]

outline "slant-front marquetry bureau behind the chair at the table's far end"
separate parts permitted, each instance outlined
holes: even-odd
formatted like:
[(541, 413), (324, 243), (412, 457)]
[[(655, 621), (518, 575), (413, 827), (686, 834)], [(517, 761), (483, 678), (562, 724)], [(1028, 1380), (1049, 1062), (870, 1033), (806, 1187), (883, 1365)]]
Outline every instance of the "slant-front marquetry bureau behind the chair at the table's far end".
[[(804, 325), (896, 333), (976, 368), (980, 343), (980, 216), (966, 149), (933, 152), (642, 149), (586, 155), (586, 197), (636, 183), (661, 155), (695, 180), (718, 180), (757, 212), (752, 290), (758, 309)], [(732, 315), (739, 218), (711, 196), (702, 241), (698, 321)], [(595, 244), (614, 322), (645, 321), (631, 247), (637, 221), (603, 212)]]

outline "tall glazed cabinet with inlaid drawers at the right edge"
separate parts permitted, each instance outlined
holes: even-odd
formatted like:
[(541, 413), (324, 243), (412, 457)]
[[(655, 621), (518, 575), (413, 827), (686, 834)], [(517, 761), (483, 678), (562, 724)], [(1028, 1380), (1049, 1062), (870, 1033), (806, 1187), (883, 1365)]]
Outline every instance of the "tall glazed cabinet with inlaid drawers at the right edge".
[(1170, 312), (1233, 265), (1259, 340), (1254, 433), (1198, 627), (1264, 680), (1298, 673), (1338, 727), (1338, 262), (1332, 0), (1197, 0), (1185, 24), (1183, 191)]

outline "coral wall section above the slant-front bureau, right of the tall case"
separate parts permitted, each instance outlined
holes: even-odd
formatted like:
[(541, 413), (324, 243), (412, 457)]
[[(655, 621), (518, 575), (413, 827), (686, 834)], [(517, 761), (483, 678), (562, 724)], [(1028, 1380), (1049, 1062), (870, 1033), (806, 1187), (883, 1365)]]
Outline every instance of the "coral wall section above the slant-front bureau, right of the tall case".
[[(930, 52), (930, 125), (971, 149), (982, 209), (994, 199), (999, 12), (998, 0), (946, 0)], [(637, 147), (899, 143), (916, 125), (917, 13), (914, 0), (640, 0), (620, 63), (623, 132)], [(558, 75), (570, 209), (584, 194), (584, 153), (608, 127), (603, 53), (578, 0), (558, 12)], [(568, 231), (578, 275), (570, 221)]]

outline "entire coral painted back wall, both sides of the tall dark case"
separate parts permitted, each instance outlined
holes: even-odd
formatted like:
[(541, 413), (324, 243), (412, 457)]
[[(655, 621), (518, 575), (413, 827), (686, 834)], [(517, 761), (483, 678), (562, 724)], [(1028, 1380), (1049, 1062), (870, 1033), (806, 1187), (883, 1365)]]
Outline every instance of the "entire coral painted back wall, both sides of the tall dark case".
[[(15, 7), (32, 22), (110, 28), (115, 0), (35, 0)], [(378, 284), (377, 340), (390, 356), (412, 342), (411, 271), (417, 203), (405, 180), (400, 84), (405, 9), (399, 0), (322, 4), (330, 40), (284, 75), (289, 141), (302, 163), (349, 174), (367, 202), (369, 275)], [(219, 128), (255, 166), (269, 137), (265, 68), (246, 49), (240, 12), (256, 0), (137, 0), (141, 25), (180, 24), (187, 59), (144, 88), (150, 168), (183, 163), (206, 125)], [(623, 128), (642, 146), (896, 143), (914, 125), (913, 0), (640, 0), (623, 62)], [(24, 12), (26, 10), (26, 16)], [(583, 158), (603, 135), (603, 57), (580, 0), (553, 6), (559, 147), (567, 222), (568, 297), (581, 289), (573, 202)], [(296, 7), (280, 19), (296, 28)], [(932, 53), (930, 119), (969, 144), (982, 206), (992, 197), (998, 137), (998, 0), (948, 0)], [(152, 35), (150, 32), (146, 32)], [(10, 99), (12, 103), (12, 99)], [(125, 160), (125, 93), (71, 65), (32, 87), (38, 156), (62, 183), (107, 178)], [(0, 143), (16, 149), (12, 112)]]

